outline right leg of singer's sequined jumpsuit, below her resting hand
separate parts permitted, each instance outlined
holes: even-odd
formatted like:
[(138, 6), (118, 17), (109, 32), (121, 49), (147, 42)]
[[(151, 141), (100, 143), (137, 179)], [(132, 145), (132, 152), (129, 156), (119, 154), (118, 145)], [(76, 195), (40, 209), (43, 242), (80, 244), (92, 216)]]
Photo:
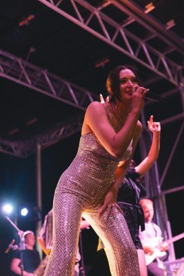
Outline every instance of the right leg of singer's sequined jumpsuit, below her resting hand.
[(137, 251), (123, 215), (116, 210), (116, 217), (107, 219), (106, 210), (99, 219), (99, 210), (83, 213), (83, 217), (103, 241), (112, 276), (139, 276)]

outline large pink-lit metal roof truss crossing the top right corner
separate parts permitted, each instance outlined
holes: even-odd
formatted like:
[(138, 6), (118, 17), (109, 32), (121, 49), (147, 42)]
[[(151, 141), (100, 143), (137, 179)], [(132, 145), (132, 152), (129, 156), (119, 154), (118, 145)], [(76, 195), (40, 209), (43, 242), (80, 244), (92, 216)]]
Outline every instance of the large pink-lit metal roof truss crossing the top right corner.
[[(38, 1), (145, 66), (145, 68), (152, 70), (156, 75), (167, 79), (175, 86), (183, 85), (181, 82), (183, 67), (166, 56), (168, 52), (172, 51), (178, 51), (183, 55), (183, 41), (172, 32), (168, 32), (161, 24), (156, 23), (154, 19), (150, 19), (147, 14), (130, 1), (104, 1), (98, 8), (84, 0), (68, 0), (67, 5), (65, 5), (65, 1), (61, 0)], [(122, 12), (122, 15), (126, 14), (127, 20), (119, 23), (106, 15), (105, 8), (111, 6)], [(127, 30), (126, 27), (134, 21), (137, 21), (150, 32), (144, 40)], [(154, 37), (159, 37), (167, 45), (167, 51), (160, 52), (148, 44), (148, 41)]]

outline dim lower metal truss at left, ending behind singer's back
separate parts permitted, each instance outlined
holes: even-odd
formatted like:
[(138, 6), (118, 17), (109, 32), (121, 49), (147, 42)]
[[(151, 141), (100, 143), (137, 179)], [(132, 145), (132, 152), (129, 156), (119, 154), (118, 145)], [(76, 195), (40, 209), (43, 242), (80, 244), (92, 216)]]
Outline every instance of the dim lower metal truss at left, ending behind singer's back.
[(36, 151), (37, 144), (40, 144), (41, 148), (48, 148), (52, 144), (61, 141), (61, 139), (65, 139), (79, 132), (82, 123), (83, 117), (75, 116), (74, 118), (70, 118), (70, 120), (58, 124), (47, 132), (35, 135), (26, 141), (6, 141), (0, 139), (0, 152), (26, 158)]

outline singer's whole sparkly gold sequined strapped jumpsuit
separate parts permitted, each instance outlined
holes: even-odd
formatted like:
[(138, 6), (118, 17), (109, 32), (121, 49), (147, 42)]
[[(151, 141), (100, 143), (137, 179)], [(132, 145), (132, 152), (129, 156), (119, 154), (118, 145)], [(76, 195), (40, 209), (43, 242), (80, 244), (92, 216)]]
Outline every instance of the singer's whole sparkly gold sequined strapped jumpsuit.
[[(122, 159), (132, 152), (132, 143)], [(44, 276), (74, 276), (81, 217), (101, 237), (112, 276), (139, 276), (136, 248), (125, 219), (118, 210), (106, 218), (99, 210), (105, 193), (114, 182), (119, 159), (112, 157), (90, 132), (82, 135), (79, 150), (54, 194), (54, 244)]]

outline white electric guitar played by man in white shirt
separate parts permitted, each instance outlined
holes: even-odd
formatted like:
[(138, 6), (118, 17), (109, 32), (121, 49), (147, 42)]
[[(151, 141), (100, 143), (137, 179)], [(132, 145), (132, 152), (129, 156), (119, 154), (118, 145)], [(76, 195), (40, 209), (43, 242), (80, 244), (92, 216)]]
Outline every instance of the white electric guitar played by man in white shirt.
[[(167, 244), (172, 244), (172, 242), (178, 241), (178, 239), (183, 239), (184, 233), (181, 233), (179, 235), (176, 235), (175, 237), (172, 237), (171, 239), (167, 239), (165, 242)], [(159, 248), (161, 248), (161, 244), (163, 244), (161, 237), (154, 237), (151, 242), (147, 243), (147, 246), (151, 246), (154, 248), (154, 253), (145, 254), (145, 264), (148, 266), (148, 264), (151, 264), (154, 259), (157, 257), (163, 257), (166, 255), (165, 251), (161, 251)]]

